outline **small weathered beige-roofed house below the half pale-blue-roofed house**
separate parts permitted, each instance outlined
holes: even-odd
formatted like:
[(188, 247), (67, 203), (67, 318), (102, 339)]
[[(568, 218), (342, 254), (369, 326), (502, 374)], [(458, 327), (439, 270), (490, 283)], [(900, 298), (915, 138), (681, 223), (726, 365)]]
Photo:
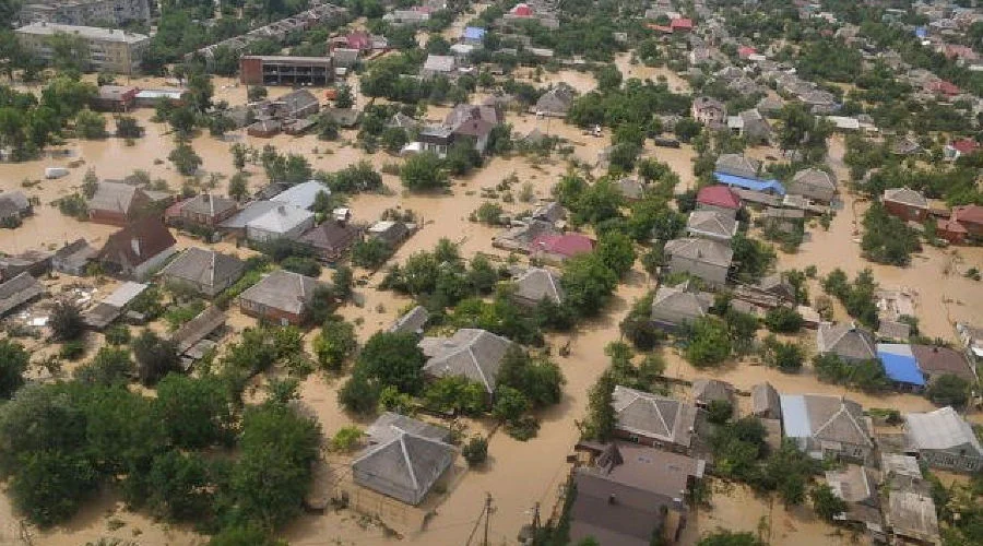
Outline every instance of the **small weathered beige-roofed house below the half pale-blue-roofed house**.
[(880, 515), (879, 476), (877, 471), (858, 464), (848, 464), (842, 470), (826, 471), (826, 483), (833, 495), (846, 502), (846, 510), (833, 515), (837, 521), (864, 525), (875, 537), (884, 535)]

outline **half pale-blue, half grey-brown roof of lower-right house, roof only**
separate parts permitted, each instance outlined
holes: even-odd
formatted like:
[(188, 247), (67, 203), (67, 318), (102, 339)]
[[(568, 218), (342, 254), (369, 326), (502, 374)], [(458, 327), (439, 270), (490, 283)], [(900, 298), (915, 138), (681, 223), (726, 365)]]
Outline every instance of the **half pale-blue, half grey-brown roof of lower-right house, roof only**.
[(789, 438), (874, 446), (863, 408), (852, 400), (825, 394), (781, 394), (779, 399)]

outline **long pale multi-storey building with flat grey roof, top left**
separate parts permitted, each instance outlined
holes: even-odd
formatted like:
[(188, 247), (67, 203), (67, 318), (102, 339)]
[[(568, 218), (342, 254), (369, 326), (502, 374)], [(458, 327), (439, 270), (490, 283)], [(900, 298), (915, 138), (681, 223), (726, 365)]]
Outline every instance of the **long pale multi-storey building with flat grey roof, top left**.
[(52, 36), (63, 34), (81, 40), (88, 50), (88, 62), (100, 72), (131, 73), (140, 69), (150, 36), (111, 28), (32, 23), (17, 28), (17, 39), (27, 51), (50, 61)]

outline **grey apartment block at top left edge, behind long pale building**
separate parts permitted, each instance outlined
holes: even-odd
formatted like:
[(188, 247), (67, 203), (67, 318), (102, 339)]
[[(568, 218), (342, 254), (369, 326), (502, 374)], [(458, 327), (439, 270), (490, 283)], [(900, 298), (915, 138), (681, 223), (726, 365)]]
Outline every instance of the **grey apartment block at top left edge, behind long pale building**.
[(21, 10), (25, 23), (121, 25), (150, 21), (150, 0), (28, 0)]

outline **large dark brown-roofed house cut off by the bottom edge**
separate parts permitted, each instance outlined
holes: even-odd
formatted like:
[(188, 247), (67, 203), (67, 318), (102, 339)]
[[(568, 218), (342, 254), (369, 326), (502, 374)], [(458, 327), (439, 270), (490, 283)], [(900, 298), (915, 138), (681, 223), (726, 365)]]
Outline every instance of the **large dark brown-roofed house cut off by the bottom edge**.
[(688, 513), (686, 494), (702, 478), (704, 461), (627, 442), (578, 449), (595, 455), (593, 464), (573, 471), (570, 544), (677, 541)]

